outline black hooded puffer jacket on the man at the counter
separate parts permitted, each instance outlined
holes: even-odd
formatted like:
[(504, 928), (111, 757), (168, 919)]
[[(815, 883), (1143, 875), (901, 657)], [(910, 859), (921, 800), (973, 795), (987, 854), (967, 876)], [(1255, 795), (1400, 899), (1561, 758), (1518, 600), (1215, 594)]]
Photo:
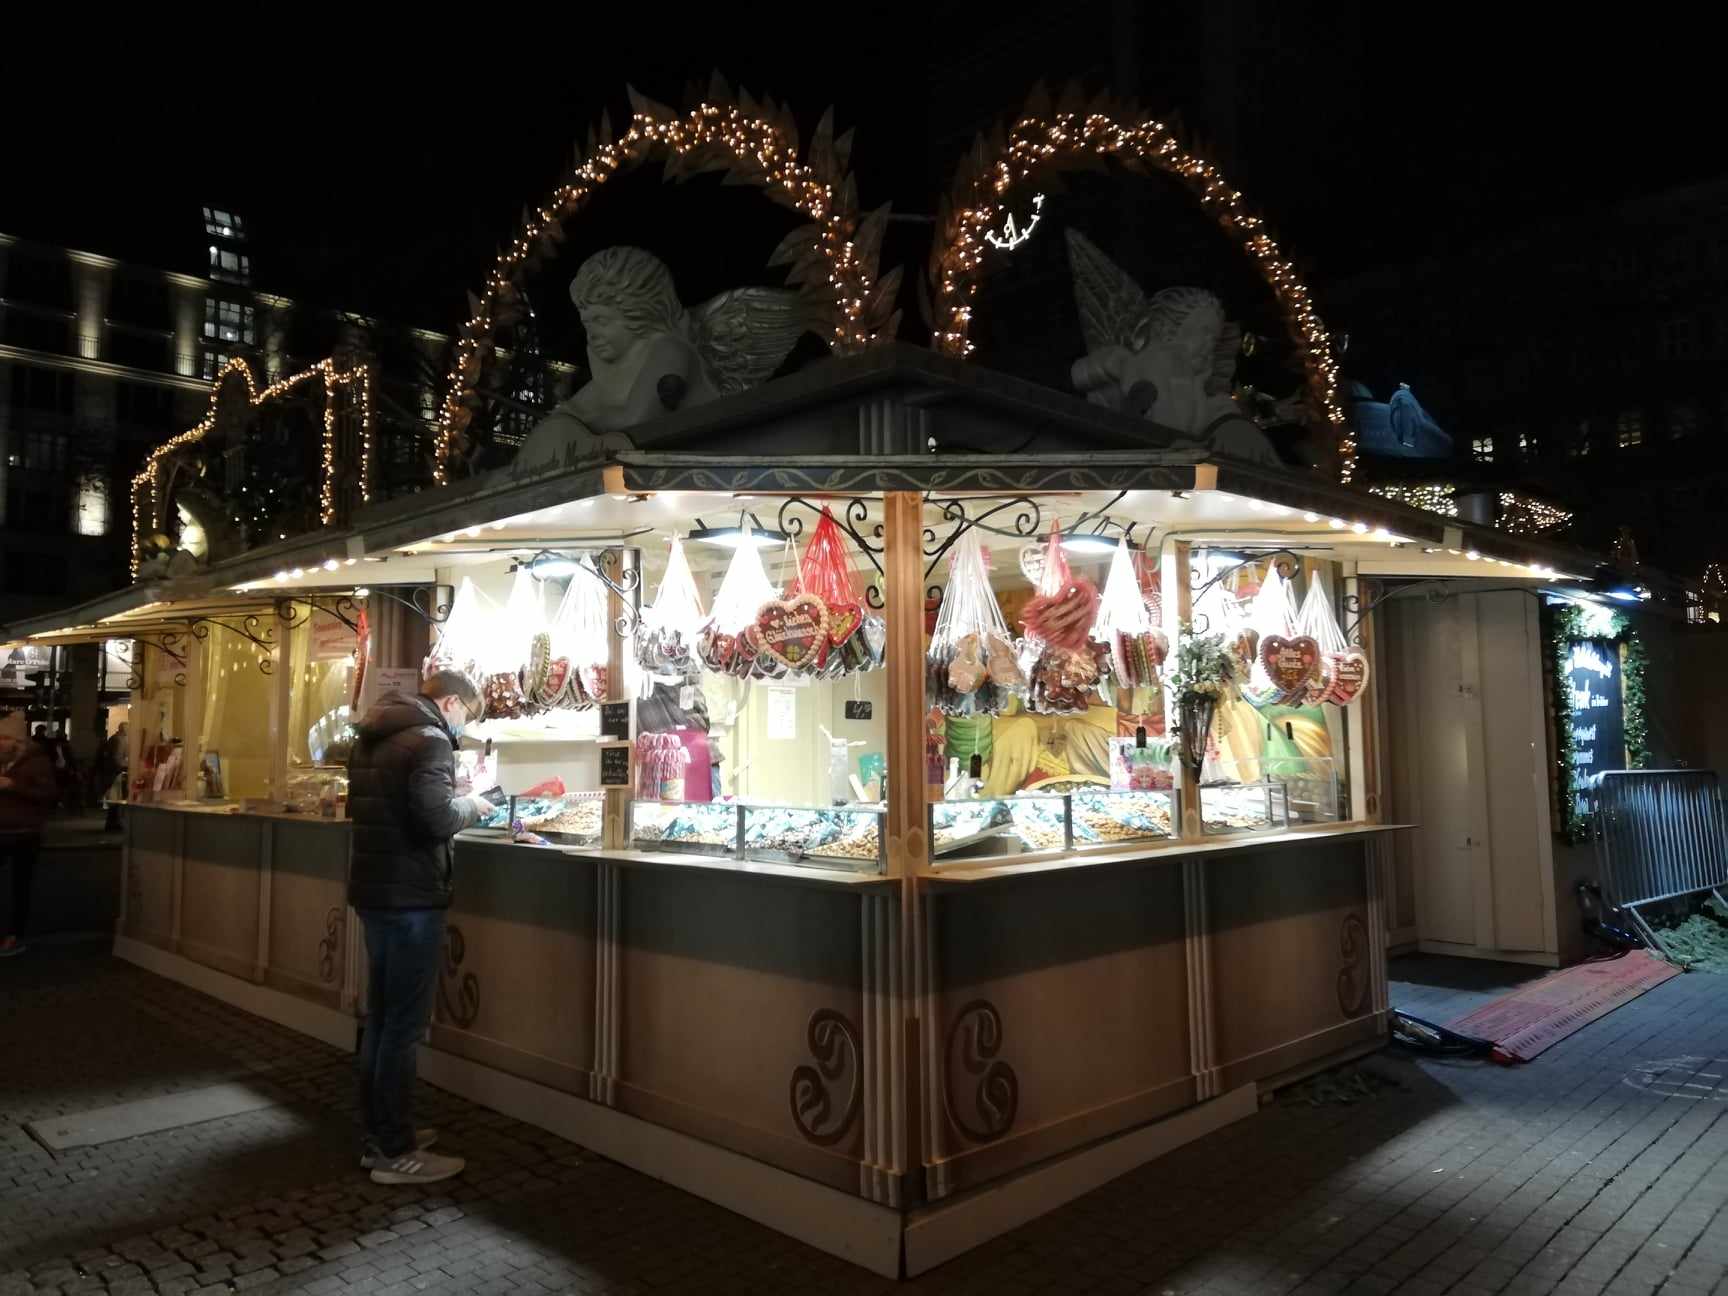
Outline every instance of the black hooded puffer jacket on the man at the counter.
[(387, 693), (358, 726), (347, 760), (356, 909), (444, 909), (451, 838), (475, 821), (456, 797), (456, 741), (427, 698)]

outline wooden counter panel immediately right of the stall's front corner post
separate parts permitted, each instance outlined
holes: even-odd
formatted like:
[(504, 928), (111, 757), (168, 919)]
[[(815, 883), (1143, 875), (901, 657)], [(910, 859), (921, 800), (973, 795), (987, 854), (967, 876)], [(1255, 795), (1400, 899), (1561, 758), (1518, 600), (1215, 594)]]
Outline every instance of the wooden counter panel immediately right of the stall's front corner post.
[(945, 892), (931, 914), (926, 1159), (968, 1163), (949, 1191), (1194, 1099), (1182, 869)]

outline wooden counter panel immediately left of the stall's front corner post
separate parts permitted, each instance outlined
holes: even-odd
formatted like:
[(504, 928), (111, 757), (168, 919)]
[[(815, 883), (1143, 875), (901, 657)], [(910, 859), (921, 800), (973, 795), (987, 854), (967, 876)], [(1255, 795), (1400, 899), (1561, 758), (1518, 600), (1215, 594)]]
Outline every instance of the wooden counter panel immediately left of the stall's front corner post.
[[(677, 1109), (707, 1113), (717, 1118), (708, 1137), (743, 1127), (798, 1139), (793, 1073), (816, 1061), (812, 1020), (838, 1013), (852, 1047), (836, 1047), (845, 1070), (828, 1085), (831, 1118), (817, 1127), (824, 1137), (842, 1128), (824, 1144), (829, 1153), (857, 1154), (864, 1120), (848, 1094), (862, 1087), (861, 897), (724, 873), (622, 869), (619, 878), (620, 1102), (669, 1121)], [(783, 1161), (771, 1149), (772, 1140), (740, 1147)]]

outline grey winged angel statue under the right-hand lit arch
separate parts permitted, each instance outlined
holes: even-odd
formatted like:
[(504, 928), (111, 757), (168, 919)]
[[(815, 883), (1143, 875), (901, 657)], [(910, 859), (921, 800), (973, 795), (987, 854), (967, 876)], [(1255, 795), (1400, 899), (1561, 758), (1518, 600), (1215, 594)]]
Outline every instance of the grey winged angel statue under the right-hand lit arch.
[(1075, 230), (1068, 230), (1068, 264), (1087, 344), (1070, 373), (1089, 401), (1180, 432), (1215, 454), (1279, 463), (1230, 391), (1242, 330), (1225, 320), (1217, 295), (1165, 289), (1147, 297)]

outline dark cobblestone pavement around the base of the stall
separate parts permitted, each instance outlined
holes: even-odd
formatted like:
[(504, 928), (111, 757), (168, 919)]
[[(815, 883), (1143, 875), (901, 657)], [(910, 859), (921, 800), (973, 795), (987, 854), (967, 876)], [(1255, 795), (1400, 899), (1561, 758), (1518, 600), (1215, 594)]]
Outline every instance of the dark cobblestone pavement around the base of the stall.
[[(1434, 1020), (1522, 975), (1393, 971), (1394, 1002)], [(468, 1173), (377, 1187), (337, 1051), (100, 949), (0, 964), (0, 1296), (895, 1289), (430, 1089), (422, 1116)], [(1645, 1066), (1678, 1058), (1681, 1078)], [(1728, 978), (1674, 978), (1529, 1066), (1363, 1070), (1372, 1097), (1286, 1090), (900, 1289), (1728, 1293)], [(22, 1128), (235, 1078), (280, 1102), (60, 1154)]]

